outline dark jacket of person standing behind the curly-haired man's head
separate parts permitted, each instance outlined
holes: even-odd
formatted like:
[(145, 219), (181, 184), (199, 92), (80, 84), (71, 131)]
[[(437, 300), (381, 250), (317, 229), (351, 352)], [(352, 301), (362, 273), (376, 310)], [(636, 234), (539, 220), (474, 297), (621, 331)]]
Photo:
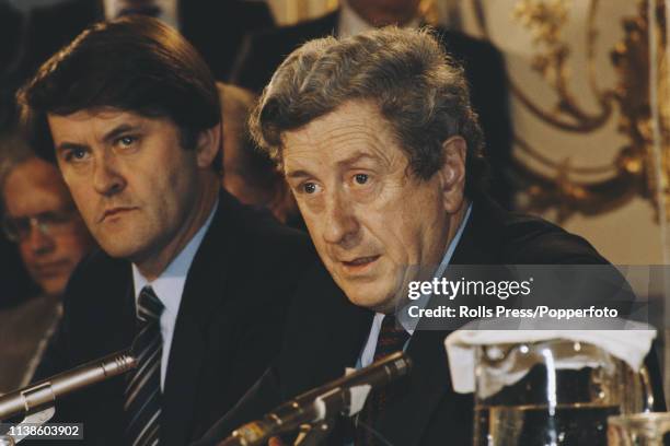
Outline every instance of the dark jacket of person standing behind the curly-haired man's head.
[[(231, 82), (261, 92), (284, 59), (308, 40), (334, 34), (338, 12), (316, 20), (250, 33), (231, 74)], [(511, 156), (511, 117), (505, 61), (490, 44), (462, 33), (437, 30), (446, 50), (465, 67), (471, 101), (480, 114), (492, 168), (492, 196), (511, 207), (512, 187), (506, 172)]]

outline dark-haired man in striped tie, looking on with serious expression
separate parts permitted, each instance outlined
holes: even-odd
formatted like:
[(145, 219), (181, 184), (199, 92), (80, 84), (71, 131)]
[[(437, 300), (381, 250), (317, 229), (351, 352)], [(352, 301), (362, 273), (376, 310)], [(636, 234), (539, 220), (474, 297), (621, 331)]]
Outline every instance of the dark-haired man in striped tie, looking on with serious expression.
[(305, 236), (221, 191), (221, 115), (206, 63), (147, 17), (101, 23), (22, 90), (102, 251), (74, 272), (45, 377), (127, 349), (138, 367), (58, 401), (86, 444), (184, 445), (276, 354)]

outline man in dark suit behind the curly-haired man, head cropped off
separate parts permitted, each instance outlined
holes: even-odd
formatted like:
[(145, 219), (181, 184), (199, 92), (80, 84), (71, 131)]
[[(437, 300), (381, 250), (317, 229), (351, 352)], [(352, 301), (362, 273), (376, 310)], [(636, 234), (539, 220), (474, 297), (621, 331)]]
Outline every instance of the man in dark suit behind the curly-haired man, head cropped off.
[[(374, 26), (424, 24), (417, 0), (343, 0), (340, 8), (322, 17), (292, 26), (261, 30), (247, 35), (231, 82), (261, 92), (287, 55), (307, 40), (334, 35), (347, 37)], [(511, 116), (507, 75), (501, 54), (489, 43), (436, 27), (447, 52), (465, 67), (471, 101), (480, 115), (492, 164), (492, 196), (505, 208), (512, 206), (507, 171), (511, 156)]]

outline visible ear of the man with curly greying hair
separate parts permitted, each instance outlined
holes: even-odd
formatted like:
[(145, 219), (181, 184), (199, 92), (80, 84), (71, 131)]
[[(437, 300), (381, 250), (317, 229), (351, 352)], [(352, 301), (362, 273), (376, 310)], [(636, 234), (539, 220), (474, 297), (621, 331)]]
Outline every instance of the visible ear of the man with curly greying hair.
[(465, 197), (465, 159), (467, 143), (463, 137), (451, 137), (442, 143), (444, 163), (438, 171), (444, 210), (454, 213)]

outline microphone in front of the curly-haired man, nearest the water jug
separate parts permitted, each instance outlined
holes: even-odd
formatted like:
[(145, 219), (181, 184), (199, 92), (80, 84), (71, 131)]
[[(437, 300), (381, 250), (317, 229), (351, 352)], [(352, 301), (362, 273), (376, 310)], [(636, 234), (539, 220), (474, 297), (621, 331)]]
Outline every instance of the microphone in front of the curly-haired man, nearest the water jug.
[(403, 352), (390, 354), (369, 366), (309, 390), (233, 431), (219, 446), (265, 445), (269, 437), (315, 423), (335, 414), (358, 413), (372, 388), (379, 388), (409, 374), (412, 360)]

